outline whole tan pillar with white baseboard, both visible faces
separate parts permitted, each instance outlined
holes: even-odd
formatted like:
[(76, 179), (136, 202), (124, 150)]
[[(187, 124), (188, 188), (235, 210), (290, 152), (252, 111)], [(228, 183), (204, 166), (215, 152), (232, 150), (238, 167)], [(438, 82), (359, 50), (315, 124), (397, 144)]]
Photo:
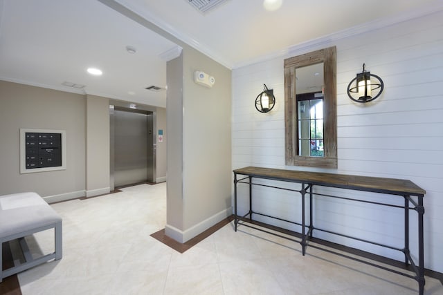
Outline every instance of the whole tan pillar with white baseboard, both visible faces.
[[(195, 70), (215, 77), (215, 86), (195, 84)], [(166, 234), (186, 242), (232, 213), (231, 72), (188, 46), (168, 62), (167, 72)]]

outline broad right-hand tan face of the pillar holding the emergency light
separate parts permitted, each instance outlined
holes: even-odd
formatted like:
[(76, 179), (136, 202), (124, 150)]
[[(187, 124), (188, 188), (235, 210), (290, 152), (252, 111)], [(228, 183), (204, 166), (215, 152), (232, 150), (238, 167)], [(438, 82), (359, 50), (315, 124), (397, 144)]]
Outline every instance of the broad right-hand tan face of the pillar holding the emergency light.
[[(215, 77), (213, 88), (195, 84), (195, 70)], [(183, 52), (185, 229), (230, 208), (230, 95), (228, 68), (192, 48)]]

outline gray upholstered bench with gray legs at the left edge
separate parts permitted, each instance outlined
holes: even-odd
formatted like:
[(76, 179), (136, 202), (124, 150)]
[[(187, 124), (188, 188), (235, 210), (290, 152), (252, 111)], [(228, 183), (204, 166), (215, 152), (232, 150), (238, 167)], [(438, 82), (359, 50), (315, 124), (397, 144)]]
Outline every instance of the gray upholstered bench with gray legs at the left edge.
[[(55, 251), (33, 258), (26, 245), (26, 236), (39, 231), (54, 229)], [(2, 269), (3, 242), (19, 240), (26, 262)], [(0, 196), (0, 282), (30, 267), (62, 258), (62, 218), (37, 193), (15, 193)]]

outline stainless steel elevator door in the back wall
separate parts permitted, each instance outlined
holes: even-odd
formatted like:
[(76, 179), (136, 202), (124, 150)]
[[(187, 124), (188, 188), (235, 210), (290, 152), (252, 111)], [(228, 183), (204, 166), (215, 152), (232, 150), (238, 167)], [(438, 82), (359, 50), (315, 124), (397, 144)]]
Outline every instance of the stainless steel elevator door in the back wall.
[(152, 120), (145, 113), (115, 110), (114, 115), (114, 186), (150, 181)]

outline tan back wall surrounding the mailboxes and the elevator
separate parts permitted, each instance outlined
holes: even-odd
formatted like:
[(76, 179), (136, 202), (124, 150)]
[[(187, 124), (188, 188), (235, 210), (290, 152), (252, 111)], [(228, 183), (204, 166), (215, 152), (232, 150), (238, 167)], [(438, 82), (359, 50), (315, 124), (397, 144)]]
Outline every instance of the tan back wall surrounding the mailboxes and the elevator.
[[(157, 129), (166, 131), (165, 108)], [(154, 110), (153, 109), (153, 110)], [(66, 170), (20, 174), (19, 131), (66, 131)], [(48, 202), (109, 192), (109, 99), (0, 81), (0, 195), (36, 191)], [(157, 178), (166, 178), (166, 144), (157, 148)]]

